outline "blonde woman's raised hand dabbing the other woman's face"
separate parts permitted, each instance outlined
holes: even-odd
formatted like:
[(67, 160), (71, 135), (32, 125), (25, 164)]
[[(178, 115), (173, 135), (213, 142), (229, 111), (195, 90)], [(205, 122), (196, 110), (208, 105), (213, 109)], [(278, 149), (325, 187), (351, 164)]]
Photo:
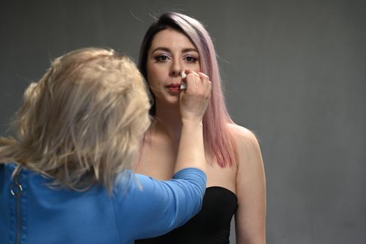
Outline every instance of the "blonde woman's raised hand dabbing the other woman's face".
[(181, 90), (179, 108), (182, 121), (202, 121), (211, 97), (211, 82), (204, 73), (185, 70), (187, 89)]

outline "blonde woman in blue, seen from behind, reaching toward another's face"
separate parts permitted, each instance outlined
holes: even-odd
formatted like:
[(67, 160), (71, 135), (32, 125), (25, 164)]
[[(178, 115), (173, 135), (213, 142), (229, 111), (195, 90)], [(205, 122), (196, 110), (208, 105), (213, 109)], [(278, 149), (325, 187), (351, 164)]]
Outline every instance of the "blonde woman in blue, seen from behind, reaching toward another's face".
[(1, 140), (1, 243), (133, 243), (195, 215), (211, 83), (187, 84), (174, 179), (156, 181), (129, 170), (150, 125), (135, 64), (98, 48), (56, 59), (24, 93), (17, 139)]

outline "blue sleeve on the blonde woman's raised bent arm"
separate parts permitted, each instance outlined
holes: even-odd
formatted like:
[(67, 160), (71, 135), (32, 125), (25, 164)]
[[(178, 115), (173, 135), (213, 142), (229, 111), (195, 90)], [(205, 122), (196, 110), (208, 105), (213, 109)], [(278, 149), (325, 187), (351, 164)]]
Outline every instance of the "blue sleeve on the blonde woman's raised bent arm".
[(114, 196), (121, 240), (127, 236), (132, 239), (160, 236), (201, 210), (206, 175), (200, 169), (182, 169), (169, 181), (157, 181), (142, 174), (135, 177), (125, 194), (121, 190)]

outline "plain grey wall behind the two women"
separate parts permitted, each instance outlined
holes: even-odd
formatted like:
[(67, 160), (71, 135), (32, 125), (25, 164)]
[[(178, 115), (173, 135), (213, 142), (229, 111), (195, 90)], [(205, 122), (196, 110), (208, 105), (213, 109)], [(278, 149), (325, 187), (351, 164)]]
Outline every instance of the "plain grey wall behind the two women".
[(86, 46), (137, 59), (166, 10), (206, 24), (229, 111), (261, 140), (267, 242), (366, 243), (365, 0), (3, 0), (0, 134), (50, 59)]

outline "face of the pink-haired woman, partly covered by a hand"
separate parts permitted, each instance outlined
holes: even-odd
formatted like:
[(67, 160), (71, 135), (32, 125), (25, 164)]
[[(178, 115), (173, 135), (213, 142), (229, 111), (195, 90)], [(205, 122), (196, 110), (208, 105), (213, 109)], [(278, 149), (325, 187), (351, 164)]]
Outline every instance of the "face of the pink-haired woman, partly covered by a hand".
[(183, 33), (169, 28), (153, 37), (146, 62), (148, 84), (157, 105), (178, 102), (183, 70), (200, 72), (195, 45)]

